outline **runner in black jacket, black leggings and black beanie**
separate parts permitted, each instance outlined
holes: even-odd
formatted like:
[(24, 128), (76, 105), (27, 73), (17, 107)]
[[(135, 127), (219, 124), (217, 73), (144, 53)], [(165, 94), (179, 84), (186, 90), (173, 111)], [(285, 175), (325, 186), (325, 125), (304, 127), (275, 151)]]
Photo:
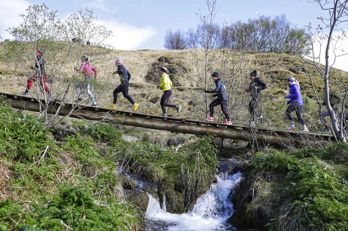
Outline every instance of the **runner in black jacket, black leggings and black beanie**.
[(249, 92), (251, 96), (249, 102), (250, 124), (247, 125), (255, 126), (255, 115), (263, 119), (263, 116), (258, 114), (257, 111), (260, 106), (261, 90), (266, 89), (267, 85), (257, 76), (256, 70), (250, 73), (250, 80), (249, 88), (244, 89), (246, 92)]

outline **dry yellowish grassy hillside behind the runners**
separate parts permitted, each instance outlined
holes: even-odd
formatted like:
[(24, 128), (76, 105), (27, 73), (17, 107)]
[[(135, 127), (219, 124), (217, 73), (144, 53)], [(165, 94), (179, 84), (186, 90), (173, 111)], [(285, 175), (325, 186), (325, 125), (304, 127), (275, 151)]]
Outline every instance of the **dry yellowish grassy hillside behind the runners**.
[[(96, 49), (96, 48), (95, 48)], [(225, 68), (225, 86), (228, 89), (230, 100), (228, 101), (228, 110), (234, 121), (234, 124), (246, 124), (248, 119), (247, 105), (249, 96), (243, 89), (248, 86), (249, 73), (257, 70), (259, 76), (266, 82), (268, 89), (263, 91), (263, 102), (261, 112), (266, 115), (266, 122), (259, 126), (283, 129), (288, 121), (285, 118), (284, 111), (287, 107), (284, 96), (287, 94), (288, 87), (286, 79), (295, 77), (299, 80), (302, 94), (305, 101), (303, 117), (309, 125), (309, 129), (317, 131), (321, 128), (319, 120), (319, 107), (314, 99), (314, 92), (310, 85), (310, 77), (315, 86), (319, 101), (323, 101), (323, 81), (314, 66), (306, 64), (297, 56), (285, 53), (266, 53), (266, 52), (247, 52), (243, 56), (226, 57), (230, 51), (217, 49), (211, 51), (214, 55), (213, 62), (209, 66), (208, 86), (214, 87), (210, 78), (213, 71), (219, 71), (223, 75)], [(93, 59), (93, 53), (89, 53)], [(107, 107), (112, 103), (112, 91), (119, 85), (119, 77), (110, 74), (110, 71), (116, 70), (115, 59), (122, 58), (124, 66), (132, 74), (130, 80), (129, 94), (133, 99), (140, 103), (139, 112), (146, 114), (162, 115), (159, 105), (162, 91), (156, 89), (160, 82), (158, 70), (165, 66), (168, 68), (172, 81), (174, 83), (171, 102), (183, 106), (180, 115), (176, 115), (175, 110), (169, 108), (169, 116), (180, 116), (189, 119), (203, 120), (206, 116), (204, 88), (204, 51), (195, 50), (141, 50), (141, 51), (111, 51), (99, 60), (92, 61), (98, 69), (98, 80), (107, 86), (104, 92), (95, 92), (96, 100), (100, 107)], [(235, 60), (241, 58), (241, 61)], [(227, 60), (224, 62), (223, 60)], [(240, 64), (239, 71), (236, 66)], [(50, 69), (50, 62), (47, 62), (47, 69)], [(72, 73), (71, 65), (66, 65), (66, 72)], [(0, 63), (0, 69), (4, 69), (4, 64)], [(17, 94), (24, 90), (18, 79), (11, 73), (1, 71), (0, 91)], [(50, 76), (50, 72), (48, 71)], [(52, 74), (51, 74), (52, 76)], [(347, 72), (338, 69), (330, 69), (331, 89), (337, 91), (342, 86), (348, 85)], [(21, 77), (25, 82), (25, 77)], [(57, 78), (52, 88), (55, 94), (57, 86), (64, 85), (64, 79)], [(26, 83), (26, 82), (25, 82)], [(73, 88), (70, 94), (75, 94)], [(87, 98), (85, 96), (84, 98)], [(208, 97), (211, 97), (210, 95)], [(71, 97), (72, 98), (72, 97)], [(208, 98), (208, 103), (213, 98)], [(120, 94), (118, 109), (130, 110), (131, 105)], [(223, 122), (223, 115), (220, 109), (215, 110), (214, 116), (218, 122)], [(295, 122), (299, 124), (299, 122)]]

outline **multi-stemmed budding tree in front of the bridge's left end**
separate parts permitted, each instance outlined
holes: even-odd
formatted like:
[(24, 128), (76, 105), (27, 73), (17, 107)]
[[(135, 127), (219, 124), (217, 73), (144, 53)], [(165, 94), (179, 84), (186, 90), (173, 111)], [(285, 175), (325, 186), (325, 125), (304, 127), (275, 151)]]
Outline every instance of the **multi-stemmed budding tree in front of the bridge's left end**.
[[(50, 10), (45, 4), (31, 5), (26, 12), (27, 14), (20, 15), (23, 23), (7, 30), (14, 40), (4, 42), (1, 59), (25, 87), (26, 81), (21, 78), (21, 73), (27, 78), (31, 77), (32, 71), (29, 66), (40, 64), (41, 60), (38, 59), (36, 53), (40, 50), (45, 59), (47, 76), (50, 79), (48, 82), (51, 83), (50, 92), (53, 92), (55, 98), (59, 99), (60, 106), (54, 115), (49, 116), (47, 108), (52, 103), (52, 99), (44, 93), (43, 86), (36, 84), (29, 93), (40, 104), (39, 118), (43, 118), (47, 127), (52, 127), (70, 116), (77, 107), (83, 104), (83, 102), (74, 104), (67, 115), (59, 117), (65, 103), (74, 100), (71, 91), (79, 76), (76, 68), (81, 63), (82, 55), (92, 54), (93, 62), (109, 52), (103, 41), (111, 35), (111, 31), (106, 30), (104, 26), (96, 25), (97, 18), (88, 9), (80, 11), (78, 14), (72, 14), (64, 22), (58, 18), (57, 11)], [(71, 42), (72, 39), (81, 42)], [(92, 46), (84, 45), (87, 41), (90, 41)], [(40, 79), (37, 82), (42, 82), (43, 73), (39, 72), (39, 76)], [(102, 91), (103, 87), (107, 85), (97, 80), (94, 86), (97, 91)]]

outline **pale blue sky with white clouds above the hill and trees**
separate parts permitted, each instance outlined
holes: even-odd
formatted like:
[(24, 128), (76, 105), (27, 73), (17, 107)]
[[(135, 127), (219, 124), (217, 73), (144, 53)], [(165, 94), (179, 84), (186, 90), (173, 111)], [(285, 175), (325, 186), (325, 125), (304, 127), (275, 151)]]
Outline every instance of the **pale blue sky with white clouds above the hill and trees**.
[[(196, 28), (200, 10), (207, 14), (205, 0), (1, 0), (0, 36), (11, 36), (5, 31), (20, 24), (20, 14), (31, 4), (46, 4), (57, 10), (61, 19), (80, 9), (92, 9), (98, 23), (113, 31), (107, 41), (119, 50), (164, 49), (164, 35), (167, 29), (187, 31)], [(217, 0), (218, 11), (215, 23), (224, 21), (246, 22), (248, 18), (265, 15), (271, 18), (285, 15), (287, 20), (302, 28), (309, 23), (317, 25), (317, 17), (325, 13), (317, 3), (307, 0)], [(345, 25), (348, 30), (348, 25)], [(346, 30), (346, 31), (347, 31)], [(342, 44), (348, 50), (348, 41)], [(348, 71), (348, 55), (339, 57), (334, 67)]]

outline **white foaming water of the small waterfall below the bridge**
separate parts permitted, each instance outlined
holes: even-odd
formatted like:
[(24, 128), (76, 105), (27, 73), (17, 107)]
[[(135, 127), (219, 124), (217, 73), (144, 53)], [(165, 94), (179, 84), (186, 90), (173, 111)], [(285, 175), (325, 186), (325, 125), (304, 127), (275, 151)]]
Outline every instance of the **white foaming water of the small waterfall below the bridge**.
[(165, 206), (161, 209), (159, 201), (149, 195), (146, 218), (164, 224), (161, 230), (167, 231), (226, 230), (225, 222), (233, 213), (233, 205), (227, 197), (241, 180), (242, 174), (227, 176), (222, 173), (216, 178), (217, 183), (212, 184), (211, 189), (198, 198), (192, 211), (188, 213), (167, 213)]

